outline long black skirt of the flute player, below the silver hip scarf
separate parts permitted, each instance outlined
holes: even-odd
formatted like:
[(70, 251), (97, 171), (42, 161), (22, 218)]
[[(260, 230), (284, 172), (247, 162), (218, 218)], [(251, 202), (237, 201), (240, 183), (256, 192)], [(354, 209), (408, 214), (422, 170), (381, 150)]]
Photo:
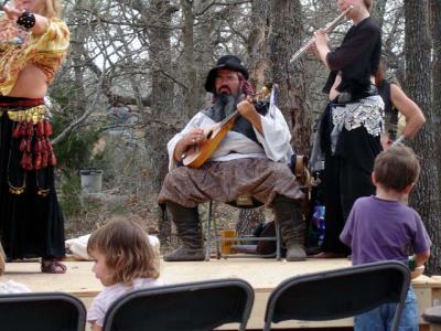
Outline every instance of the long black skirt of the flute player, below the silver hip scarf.
[(335, 152), (331, 151), (333, 130), (331, 105), (325, 109), (321, 145), (325, 156), (323, 183), (325, 191), (325, 235), (322, 249), (351, 254), (340, 241), (351, 209), (358, 197), (375, 194), (370, 174), (376, 156), (383, 150), (379, 136), (369, 135), (365, 127), (343, 130), (338, 135)]

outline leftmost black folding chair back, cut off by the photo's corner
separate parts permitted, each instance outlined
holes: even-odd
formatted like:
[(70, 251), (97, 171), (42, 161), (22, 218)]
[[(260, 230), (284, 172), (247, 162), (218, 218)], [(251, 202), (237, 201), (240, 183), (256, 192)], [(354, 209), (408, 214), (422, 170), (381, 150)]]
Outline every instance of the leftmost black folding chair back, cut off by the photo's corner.
[(86, 308), (63, 292), (0, 295), (0, 330), (84, 331)]

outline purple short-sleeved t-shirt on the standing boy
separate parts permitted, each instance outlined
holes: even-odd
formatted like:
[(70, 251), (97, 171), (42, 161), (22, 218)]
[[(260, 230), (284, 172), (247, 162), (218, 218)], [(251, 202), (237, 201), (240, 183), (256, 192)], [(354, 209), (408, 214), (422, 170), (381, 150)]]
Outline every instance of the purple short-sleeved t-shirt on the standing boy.
[(352, 264), (398, 260), (407, 264), (432, 245), (418, 213), (404, 203), (364, 196), (355, 201), (340, 239), (352, 247)]

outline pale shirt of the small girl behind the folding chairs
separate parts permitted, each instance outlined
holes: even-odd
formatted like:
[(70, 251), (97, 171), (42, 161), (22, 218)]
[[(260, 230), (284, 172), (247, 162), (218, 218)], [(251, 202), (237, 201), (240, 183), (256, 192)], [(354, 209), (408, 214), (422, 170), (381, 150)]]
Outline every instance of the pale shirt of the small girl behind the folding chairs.
[(107, 310), (119, 297), (137, 289), (161, 285), (164, 285), (161, 279), (137, 278), (133, 281), (133, 286), (117, 282), (112, 286), (105, 287), (104, 290), (95, 297), (94, 301), (92, 301), (92, 306), (87, 311), (87, 321), (95, 321), (97, 325), (103, 327)]

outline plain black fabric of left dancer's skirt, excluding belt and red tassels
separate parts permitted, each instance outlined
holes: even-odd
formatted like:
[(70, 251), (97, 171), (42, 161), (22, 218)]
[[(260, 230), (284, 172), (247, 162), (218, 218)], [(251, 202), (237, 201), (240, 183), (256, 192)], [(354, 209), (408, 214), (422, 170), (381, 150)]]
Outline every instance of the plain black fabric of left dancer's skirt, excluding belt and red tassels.
[[(61, 258), (65, 255), (64, 217), (54, 188), (54, 168), (21, 167), (21, 141), (12, 137), (19, 122), (9, 118), (6, 107), (1, 109), (0, 239), (4, 252), (11, 259)], [(36, 130), (37, 125), (28, 126)], [(36, 142), (36, 138), (30, 140), (30, 150), (35, 150)]]

